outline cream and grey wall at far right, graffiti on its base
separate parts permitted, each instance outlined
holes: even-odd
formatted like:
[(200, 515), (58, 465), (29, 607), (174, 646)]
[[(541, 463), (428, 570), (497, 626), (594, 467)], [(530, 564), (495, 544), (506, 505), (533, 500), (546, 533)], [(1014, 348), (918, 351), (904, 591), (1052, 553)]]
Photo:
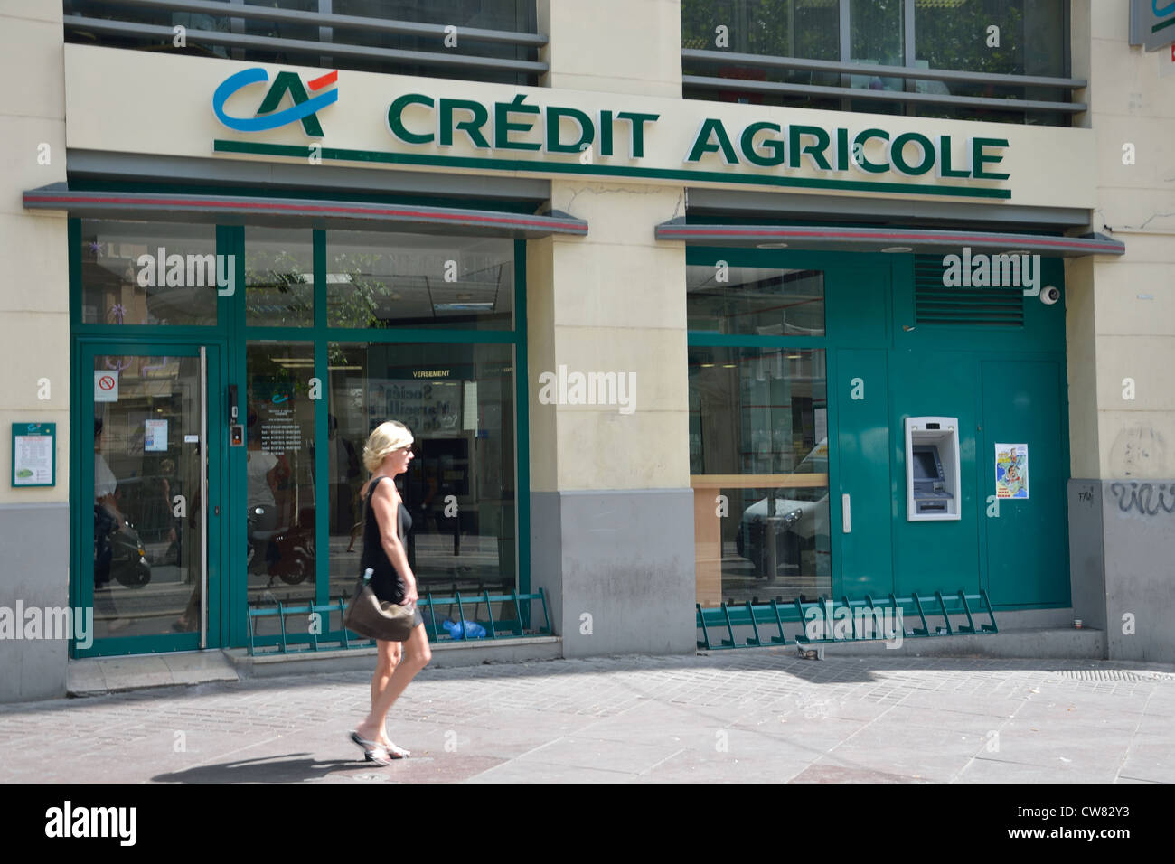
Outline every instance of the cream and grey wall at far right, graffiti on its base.
[[(1126, 243), (1066, 270), (1074, 614), (1112, 659), (1175, 661), (1175, 76), (1128, 45), (1126, 4), (1073, 5), (1090, 80), (1094, 230)], [(1123, 615), (1134, 616), (1134, 632)], [(1099, 624), (1097, 622), (1102, 622)], [(1123, 632), (1123, 629), (1127, 632)]]

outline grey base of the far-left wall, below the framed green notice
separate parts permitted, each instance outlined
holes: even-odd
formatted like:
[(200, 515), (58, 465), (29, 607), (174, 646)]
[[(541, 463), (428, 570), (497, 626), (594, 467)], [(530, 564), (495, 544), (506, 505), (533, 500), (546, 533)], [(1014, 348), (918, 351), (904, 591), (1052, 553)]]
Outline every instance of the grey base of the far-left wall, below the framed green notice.
[[(69, 505), (0, 505), (0, 607), (62, 608), (68, 603)], [(15, 622), (24, 632), (24, 622)], [(66, 695), (66, 639), (0, 638), (0, 702)]]

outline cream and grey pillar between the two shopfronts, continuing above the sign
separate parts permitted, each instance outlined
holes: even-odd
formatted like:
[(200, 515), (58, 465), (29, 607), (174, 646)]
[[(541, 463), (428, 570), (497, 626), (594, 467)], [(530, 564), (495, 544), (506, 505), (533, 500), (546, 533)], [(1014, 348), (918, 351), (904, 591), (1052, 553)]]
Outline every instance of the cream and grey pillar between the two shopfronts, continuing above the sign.
[[(602, 8), (603, 6), (603, 8)], [(680, 96), (676, 0), (539, 2), (552, 87)], [(622, 24), (623, 22), (623, 24)], [(552, 180), (588, 237), (528, 245), (532, 584), (569, 657), (694, 648), (683, 188)], [(631, 374), (631, 413), (542, 401), (539, 375)]]

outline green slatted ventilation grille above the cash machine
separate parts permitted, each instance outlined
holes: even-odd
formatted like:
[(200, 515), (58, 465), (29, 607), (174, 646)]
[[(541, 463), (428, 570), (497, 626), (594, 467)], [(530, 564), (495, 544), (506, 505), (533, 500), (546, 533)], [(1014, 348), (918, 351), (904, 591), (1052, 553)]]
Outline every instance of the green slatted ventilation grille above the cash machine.
[(1023, 327), (1020, 288), (947, 288), (939, 255), (914, 255), (914, 317), (920, 324)]

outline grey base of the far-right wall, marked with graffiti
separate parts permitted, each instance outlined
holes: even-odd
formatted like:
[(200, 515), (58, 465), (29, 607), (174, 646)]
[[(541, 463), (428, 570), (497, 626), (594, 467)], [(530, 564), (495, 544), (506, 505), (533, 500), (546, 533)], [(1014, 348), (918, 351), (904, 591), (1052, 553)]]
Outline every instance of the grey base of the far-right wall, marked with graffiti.
[(1175, 663), (1175, 481), (1070, 480), (1074, 615), (1107, 659)]

